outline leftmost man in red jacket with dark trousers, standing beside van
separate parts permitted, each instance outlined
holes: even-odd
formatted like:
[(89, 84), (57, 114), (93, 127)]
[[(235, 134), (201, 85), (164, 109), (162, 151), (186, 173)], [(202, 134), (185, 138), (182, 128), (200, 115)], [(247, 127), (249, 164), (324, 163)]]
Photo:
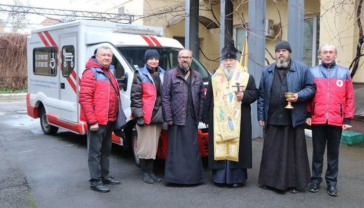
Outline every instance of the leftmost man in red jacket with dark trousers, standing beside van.
[[(88, 170), (90, 189), (108, 192), (104, 184), (119, 184), (109, 174), (111, 133), (118, 112), (118, 83), (110, 70), (112, 52), (100, 47), (86, 63), (82, 74), (79, 103), (80, 119), (87, 122)], [(120, 109), (122, 110), (122, 109)]]

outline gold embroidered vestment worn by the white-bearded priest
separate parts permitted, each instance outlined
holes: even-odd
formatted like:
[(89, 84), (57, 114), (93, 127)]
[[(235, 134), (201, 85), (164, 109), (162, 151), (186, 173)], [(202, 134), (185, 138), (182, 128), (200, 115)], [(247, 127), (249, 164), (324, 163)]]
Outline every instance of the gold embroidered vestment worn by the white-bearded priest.
[(229, 81), (222, 65), (211, 78), (215, 160), (239, 161), (241, 101), (235, 96), (237, 87), (233, 86), (239, 83), (239, 91), (245, 91), (248, 80), (248, 72), (238, 62)]

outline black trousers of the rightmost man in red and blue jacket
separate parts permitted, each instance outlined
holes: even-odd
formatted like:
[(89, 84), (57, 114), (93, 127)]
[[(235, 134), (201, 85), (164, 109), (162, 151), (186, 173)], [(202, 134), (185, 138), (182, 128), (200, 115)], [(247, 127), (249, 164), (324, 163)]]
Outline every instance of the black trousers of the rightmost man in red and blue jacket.
[(312, 182), (321, 183), (323, 179), (324, 153), (327, 142), (327, 170), (325, 180), (328, 186), (336, 186), (339, 172), (339, 146), (342, 128), (329, 124), (312, 124)]

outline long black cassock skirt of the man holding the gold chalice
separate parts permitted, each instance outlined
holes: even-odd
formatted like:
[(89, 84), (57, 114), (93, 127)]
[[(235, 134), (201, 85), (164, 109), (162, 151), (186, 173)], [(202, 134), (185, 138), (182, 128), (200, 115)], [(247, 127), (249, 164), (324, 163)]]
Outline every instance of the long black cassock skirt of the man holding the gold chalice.
[(310, 182), (304, 126), (267, 124), (258, 183), (286, 190), (305, 188)]

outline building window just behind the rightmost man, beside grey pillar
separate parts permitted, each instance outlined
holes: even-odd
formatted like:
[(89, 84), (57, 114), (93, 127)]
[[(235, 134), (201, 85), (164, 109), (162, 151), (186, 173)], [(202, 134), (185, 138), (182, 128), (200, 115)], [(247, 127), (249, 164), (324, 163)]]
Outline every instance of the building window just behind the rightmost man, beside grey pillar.
[(320, 44), (320, 15), (305, 17), (303, 22), (303, 57), (307, 66), (319, 64), (317, 50)]

